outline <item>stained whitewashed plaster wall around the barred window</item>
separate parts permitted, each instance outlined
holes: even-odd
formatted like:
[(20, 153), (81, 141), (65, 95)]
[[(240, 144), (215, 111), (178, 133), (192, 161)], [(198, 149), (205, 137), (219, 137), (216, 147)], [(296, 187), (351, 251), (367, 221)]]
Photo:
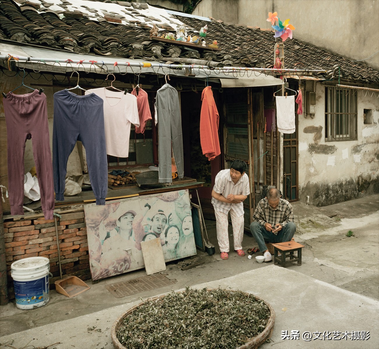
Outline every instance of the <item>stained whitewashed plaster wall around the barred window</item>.
[[(357, 141), (325, 142), (321, 84), (316, 85), (315, 118), (299, 115), (299, 200), (309, 196), (310, 204), (325, 206), (379, 192), (379, 99), (356, 93)], [(363, 109), (371, 109), (371, 124), (364, 124)]]

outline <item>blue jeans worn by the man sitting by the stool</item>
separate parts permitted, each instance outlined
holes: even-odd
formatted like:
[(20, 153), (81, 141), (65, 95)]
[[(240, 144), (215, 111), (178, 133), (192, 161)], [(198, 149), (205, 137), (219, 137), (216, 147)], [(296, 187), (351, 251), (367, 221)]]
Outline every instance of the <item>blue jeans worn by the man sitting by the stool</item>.
[(296, 225), (293, 222), (288, 222), (282, 230), (278, 232), (278, 235), (275, 235), (273, 232), (267, 231), (260, 223), (253, 222), (250, 224), (250, 231), (258, 243), (259, 251), (263, 252), (267, 250), (265, 242), (291, 241), (296, 231)]

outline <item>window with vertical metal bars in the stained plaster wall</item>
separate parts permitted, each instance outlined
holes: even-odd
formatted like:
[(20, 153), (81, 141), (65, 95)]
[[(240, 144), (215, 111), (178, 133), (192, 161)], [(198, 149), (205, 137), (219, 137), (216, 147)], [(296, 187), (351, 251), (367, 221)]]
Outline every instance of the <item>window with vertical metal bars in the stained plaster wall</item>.
[(354, 139), (357, 139), (356, 91), (325, 87), (325, 141)]

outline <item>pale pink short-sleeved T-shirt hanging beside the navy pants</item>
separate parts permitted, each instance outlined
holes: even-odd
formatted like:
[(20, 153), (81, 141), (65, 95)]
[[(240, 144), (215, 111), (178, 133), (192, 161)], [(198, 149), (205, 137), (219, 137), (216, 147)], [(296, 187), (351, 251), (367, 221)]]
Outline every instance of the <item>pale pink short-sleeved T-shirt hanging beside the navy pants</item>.
[(119, 158), (129, 156), (130, 128), (139, 126), (137, 98), (130, 93), (93, 88), (85, 92), (94, 93), (104, 101), (104, 128), (106, 153)]

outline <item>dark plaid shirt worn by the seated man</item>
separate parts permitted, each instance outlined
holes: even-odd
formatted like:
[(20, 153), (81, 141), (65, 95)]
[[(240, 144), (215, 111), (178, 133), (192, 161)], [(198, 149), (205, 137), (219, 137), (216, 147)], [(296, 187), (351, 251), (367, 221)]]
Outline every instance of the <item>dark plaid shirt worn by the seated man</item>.
[[(287, 200), (279, 199), (278, 207), (273, 210), (268, 204), (268, 200), (264, 198), (258, 202), (257, 208), (255, 208), (253, 221), (263, 226), (265, 223), (270, 223), (271, 225), (280, 223), (284, 227), (288, 222), (295, 221), (292, 205)], [(274, 234), (277, 235), (278, 232), (274, 232)]]

